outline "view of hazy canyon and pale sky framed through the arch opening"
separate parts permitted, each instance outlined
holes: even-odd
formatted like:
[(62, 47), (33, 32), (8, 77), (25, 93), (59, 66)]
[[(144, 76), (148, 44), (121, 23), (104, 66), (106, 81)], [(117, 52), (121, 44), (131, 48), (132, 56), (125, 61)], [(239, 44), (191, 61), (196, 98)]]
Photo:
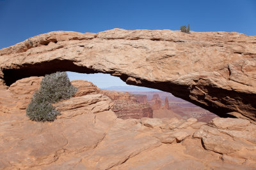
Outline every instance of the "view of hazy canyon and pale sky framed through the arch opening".
[[(214, 117), (210, 111), (184, 101), (171, 93), (161, 90), (127, 85), (110, 74), (81, 74), (67, 72), (70, 80), (86, 80), (97, 85), (113, 100), (113, 111), (118, 118), (196, 118), (200, 122), (209, 122)], [(83, 81), (81, 81), (83, 86)]]

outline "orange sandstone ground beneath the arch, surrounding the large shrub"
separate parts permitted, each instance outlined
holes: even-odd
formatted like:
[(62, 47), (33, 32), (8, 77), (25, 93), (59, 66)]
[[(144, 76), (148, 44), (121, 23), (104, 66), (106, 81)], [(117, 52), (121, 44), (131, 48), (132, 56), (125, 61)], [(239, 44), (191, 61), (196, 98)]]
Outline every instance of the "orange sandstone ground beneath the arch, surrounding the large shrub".
[(239, 118), (122, 120), (88, 81), (54, 104), (54, 122), (25, 108), (42, 77), (0, 87), (0, 169), (256, 169), (256, 125)]

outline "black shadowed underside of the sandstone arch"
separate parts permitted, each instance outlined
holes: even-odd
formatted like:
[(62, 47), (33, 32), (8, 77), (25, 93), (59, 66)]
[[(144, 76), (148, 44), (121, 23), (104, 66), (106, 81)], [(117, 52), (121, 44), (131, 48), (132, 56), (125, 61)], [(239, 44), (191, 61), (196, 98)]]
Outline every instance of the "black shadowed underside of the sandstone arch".
[[(222, 100), (221, 103), (223, 103), (223, 106), (220, 106), (220, 104), (215, 103), (207, 103), (205, 99), (200, 99), (200, 96), (198, 97), (198, 101), (191, 99), (189, 97), (191, 95), (191, 89), (187, 85), (177, 85), (175, 83), (172, 83), (170, 81), (148, 81), (143, 80), (140, 77), (132, 77), (131, 75), (127, 75), (124, 73), (118, 73), (116, 74), (115, 71), (102, 71), (97, 70), (93, 68), (93, 66), (85, 67), (85, 66), (78, 66), (74, 61), (72, 60), (63, 60), (63, 59), (53, 59), (50, 61), (44, 61), (44, 62), (38, 62), (33, 64), (22, 64), (22, 66), (15, 65), (12, 67), (4, 67), (1, 68), (1, 71), (3, 72), (3, 80), (6, 83), (6, 85), (10, 86), (15, 81), (26, 78), (29, 76), (44, 76), (45, 74), (51, 74), (56, 71), (73, 71), (77, 73), (105, 73), (105, 74), (111, 74), (112, 76), (118, 76), (122, 81), (125, 81), (128, 85), (136, 85), (141, 87), (148, 87), (151, 89), (158, 89), (162, 90), (164, 92), (170, 92), (175, 97), (179, 97), (181, 99), (184, 99), (186, 101), (189, 101), (190, 103), (193, 103), (197, 106), (200, 106), (201, 108), (204, 108), (205, 110), (209, 110), (212, 113), (220, 116), (220, 117), (234, 117), (232, 115), (228, 115), (227, 113), (230, 113), (234, 110), (230, 107), (225, 107), (225, 104), (227, 101)], [(138, 83), (139, 82), (139, 83)], [(205, 87), (210, 88), (210, 87)], [(227, 91), (224, 89), (214, 89), (211, 87), (211, 90), (208, 90), (209, 96), (216, 97), (218, 99), (225, 99), (227, 97)], [(243, 103), (250, 104), (252, 101), (250, 99), (253, 98), (253, 96), (250, 96), (250, 94), (239, 94), (238, 92), (229, 92), (228, 97), (231, 97), (233, 99), (240, 99), (243, 100)], [(255, 96), (254, 96), (255, 98)], [(201, 102), (204, 101), (204, 102)], [(256, 102), (256, 99), (255, 99)], [(255, 103), (256, 105), (256, 103)]]

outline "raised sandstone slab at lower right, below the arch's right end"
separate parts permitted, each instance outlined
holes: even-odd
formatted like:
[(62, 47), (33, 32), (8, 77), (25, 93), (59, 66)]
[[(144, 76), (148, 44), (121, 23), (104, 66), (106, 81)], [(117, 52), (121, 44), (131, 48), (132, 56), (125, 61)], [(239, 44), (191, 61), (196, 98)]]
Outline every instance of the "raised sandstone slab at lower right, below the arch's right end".
[[(237, 118), (214, 118), (193, 134), (207, 150), (221, 153), (224, 162), (255, 164), (256, 125)], [(247, 152), (250, 150), (250, 152)]]

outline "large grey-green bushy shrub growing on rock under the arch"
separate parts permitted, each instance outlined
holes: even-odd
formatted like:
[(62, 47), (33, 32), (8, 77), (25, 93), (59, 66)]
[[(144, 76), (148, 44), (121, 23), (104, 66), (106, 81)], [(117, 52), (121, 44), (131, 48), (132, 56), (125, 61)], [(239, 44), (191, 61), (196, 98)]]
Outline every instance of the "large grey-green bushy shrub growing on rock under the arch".
[(69, 99), (77, 92), (66, 72), (47, 74), (40, 83), (40, 89), (33, 94), (26, 108), (26, 115), (35, 121), (52, 122), (60, 112), (51, 103)]

